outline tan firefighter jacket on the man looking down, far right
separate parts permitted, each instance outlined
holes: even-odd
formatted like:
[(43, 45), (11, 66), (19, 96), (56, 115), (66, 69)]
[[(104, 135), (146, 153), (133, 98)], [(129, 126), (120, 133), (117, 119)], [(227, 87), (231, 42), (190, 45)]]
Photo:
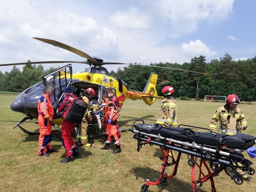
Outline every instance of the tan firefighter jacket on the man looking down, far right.
[(219, 121), (218, 132), (228, 135), (233, 135), (237, 133), (237, 126), (240, 121), (240, 126), (247, 127), (247, 122), (244, 114), (239, 108), (234, 108), (233, 110), (227, 109), (226, 105), (217, 109), (213, 118), (209, 123), (209, 128), (212, 132), (216, 132), (216, 124)]

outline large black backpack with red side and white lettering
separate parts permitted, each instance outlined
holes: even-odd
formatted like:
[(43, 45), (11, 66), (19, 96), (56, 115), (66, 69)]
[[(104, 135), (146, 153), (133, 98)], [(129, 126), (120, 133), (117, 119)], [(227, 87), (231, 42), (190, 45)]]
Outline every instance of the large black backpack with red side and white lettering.
[(62, 119), (80, 124), (87, 106), (87, 103), (81, 97), (70, 97), (63, 110)]

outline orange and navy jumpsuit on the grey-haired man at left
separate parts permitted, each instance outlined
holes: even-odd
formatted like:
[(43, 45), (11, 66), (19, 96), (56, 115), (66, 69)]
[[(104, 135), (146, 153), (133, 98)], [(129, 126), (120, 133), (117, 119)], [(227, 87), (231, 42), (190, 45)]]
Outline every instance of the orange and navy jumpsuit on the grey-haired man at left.
[(38, 155), (44, 155), (47, 151), (52, 150), (52, 125), (47, 119), (53, 118), (53, 108), (51, 98), (43, 94), (39, 99), (37, 105), (38, 111), (38, 125), (39, 125), (39, 139), (38, 139)]

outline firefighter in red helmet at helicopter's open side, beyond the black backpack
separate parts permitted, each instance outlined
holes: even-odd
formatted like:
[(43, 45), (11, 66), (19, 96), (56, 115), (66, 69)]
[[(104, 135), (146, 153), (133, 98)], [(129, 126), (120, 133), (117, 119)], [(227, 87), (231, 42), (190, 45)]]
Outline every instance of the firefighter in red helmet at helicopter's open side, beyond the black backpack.
[(90, 113), (90, 101), (89, 99), (95, 95), (95, 91), (92, 88), (86, 89), (83, 93), (82, 99), (87, 103), (88, 107), (82, 119), (79, 130), (77, 131), (76, 142), (78, 145), (85, 147), (91, 147), (92, 144), (88, 143), (87, 128), (89, 121), (92, 121), (92, 115)]

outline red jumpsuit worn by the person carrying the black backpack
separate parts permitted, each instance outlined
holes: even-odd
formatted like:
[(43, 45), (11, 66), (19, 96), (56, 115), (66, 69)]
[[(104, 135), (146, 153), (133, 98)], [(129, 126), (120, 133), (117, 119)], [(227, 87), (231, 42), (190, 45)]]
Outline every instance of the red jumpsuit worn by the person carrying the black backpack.
[[(74, 94), (66, 95), (58, 108), (58, 111), (61, 112), (64, 110), (64, 107), (67, 105), (69, 98), (75, 97)], [(64, 120), (61, 125), (61, 135), (63, 139), (63, 145), (66, 149), (66, 157), (70, 157), (73, 154), (73, 150), (76, 149), (75, 141), (73, 140), (71, 134), (74, 130), (76, 123), (71, 121)]]

